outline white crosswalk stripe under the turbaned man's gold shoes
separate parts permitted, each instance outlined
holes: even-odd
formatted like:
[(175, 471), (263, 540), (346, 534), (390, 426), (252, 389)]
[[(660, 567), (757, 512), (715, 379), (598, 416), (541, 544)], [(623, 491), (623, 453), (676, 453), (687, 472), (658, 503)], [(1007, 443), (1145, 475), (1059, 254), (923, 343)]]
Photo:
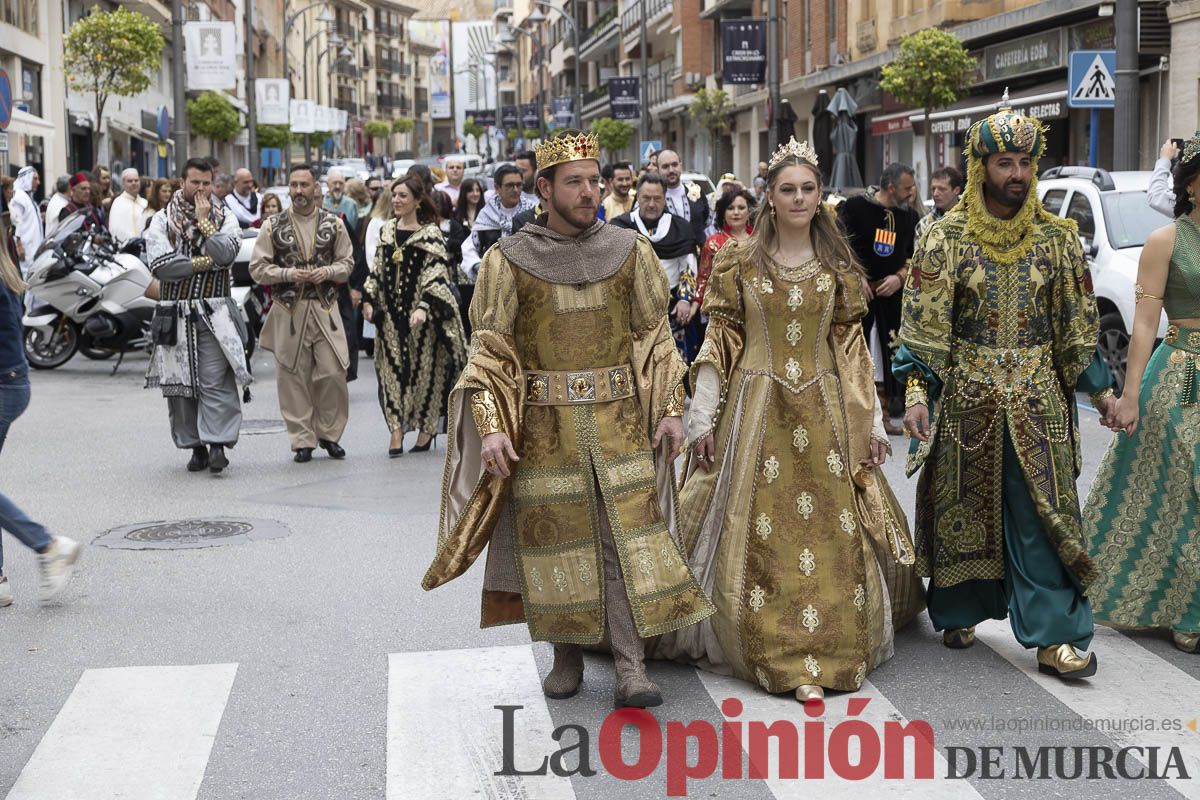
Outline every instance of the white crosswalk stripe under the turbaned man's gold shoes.
[[(1175, 664), (1109, 627), (1097, 626), (1092, 652), (1100, 660), (1096, 675), (1064, 681), (1038, 672), (1036, 650), (1026, 650), (1014, 637), (1008, 620), (988, 620), (976, 627), (980, 642), (1025, 673), (1085, 720), (1117, 723), (1116, 729), (1097, 728), (1118, 747), (1178, 747), (1190, 776), (1200, 775), (1200, 735), (1187, 722), (1200, 716), (1200, 681)], [(1153, 720), (1157, 729), (1134, 730), (1121, 723)], [(1163, 721), (1180, 721), (1178, 729), (1162, 729)], [(1146, 758), (1138, 759), (1146, 763)], [(1200, 781), (1170, 781), (1172, 789), (1200, 800)]]

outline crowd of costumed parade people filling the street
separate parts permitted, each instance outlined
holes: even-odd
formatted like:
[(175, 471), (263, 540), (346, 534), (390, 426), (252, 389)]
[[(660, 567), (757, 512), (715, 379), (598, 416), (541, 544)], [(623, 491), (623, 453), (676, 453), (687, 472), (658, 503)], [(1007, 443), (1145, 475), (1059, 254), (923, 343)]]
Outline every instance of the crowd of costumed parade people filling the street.
[[(388, 455), (406, 433), (409, 451), (448, 433), (424, 585), (490, 543), (482, 622), (553, 643), (547, 696), (576, 693), (582, 646), (606, 643), (618, 705), (661, 703), (648, 655), (809, 700), (858, 690), (925, 608), (952, 649), (1008, 618), (1064, 680), (1096, 673), (1096, 620), (1200, 650), (1200, 133), (1166, 168), (1174, 218), (1142, 255), (1120, 399), (1078, 230), (1036, 192), (1044, 148), (1044, 125), (1002, 104), (968, 132), (966, 174), (931, 175), (930, 213), (905, 164), (842, 201), (793, 139), (749, 186), (725, 175), (706, 196), (674, 151), (601, 166), (595, 137), (568, 131), (491, 188), (450, 157), (391, 181), (331, 172), (323, 196), (294, 164), (282, 210), (246, 170), (222, 194), (193, 160), (179, 188), (150, 187), (148, 222), (136, 174), (107, 206), (91, 176), (70, 179), (60, 216), (145, 236), (160, 297), (146, 384), (188, 469), (222, 471), (236, 444), (251, 378), (228, 272), (239, 228), (256, 227), (294, 461), (346, 457), (348, 381), (373, 330)], [(20, 191), (36, 178), (19, 174)], [(12, 209), (28, 248), (31, 211)], [(18, 387), (0, 393), (0, 445), (28, 402), (10, 347), (22, 258), (0, 261), (0, 311), (17, 309), (0, 319), (0, 390)], [(1121, 432), (1086, 503), (1075, 392)], [(901, 433), (912, 529), (880, 470)], [(1163, 487), (1175, 500), (1152, 499)], [(77, 546), (2, 497), (0, 525), (60, 588)]]

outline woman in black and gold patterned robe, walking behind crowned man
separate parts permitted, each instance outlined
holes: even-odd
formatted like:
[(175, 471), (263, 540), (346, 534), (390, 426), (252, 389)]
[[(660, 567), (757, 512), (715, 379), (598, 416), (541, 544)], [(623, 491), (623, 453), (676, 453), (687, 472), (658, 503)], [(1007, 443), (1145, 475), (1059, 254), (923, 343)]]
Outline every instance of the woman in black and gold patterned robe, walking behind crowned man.
[(467, 347), (445, 240), (424, 184), (415, 176), (396, 181), (391, 204), (395, 216), (379, 234), (362, 313), (378, 330), (379, 407), (395, 458), (404, 452), (406, 429), (419, 431), (414, 451), (430, 449)]

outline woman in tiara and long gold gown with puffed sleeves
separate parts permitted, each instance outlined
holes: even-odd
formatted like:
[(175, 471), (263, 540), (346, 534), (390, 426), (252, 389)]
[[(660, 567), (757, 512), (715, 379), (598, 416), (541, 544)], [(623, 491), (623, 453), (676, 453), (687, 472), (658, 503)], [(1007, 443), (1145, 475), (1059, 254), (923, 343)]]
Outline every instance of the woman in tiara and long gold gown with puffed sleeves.
[(679, 533), (716, 604), (659, 654), (797, 699), (854, 691), (892, 655), (887, 584), (920, 610), (860, 320), (863, 271), (808, 143), (770, 160), (754, 235), (716, 258), (691, 367)]

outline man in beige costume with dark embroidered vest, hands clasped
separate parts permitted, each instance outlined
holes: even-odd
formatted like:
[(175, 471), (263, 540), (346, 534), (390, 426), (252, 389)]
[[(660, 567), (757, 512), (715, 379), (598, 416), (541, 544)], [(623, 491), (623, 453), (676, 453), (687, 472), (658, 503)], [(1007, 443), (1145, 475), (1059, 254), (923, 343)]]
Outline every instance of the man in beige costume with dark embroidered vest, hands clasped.
[(337, 440), (350, 410), (350, 357), (337, 285), (349, 279), (354, 252), (342, 221), (320, 207), (312, 168), (292, 167), (288, 194), (292, 207), (263, 222), (250, 273), (274, 287), (262, 344), (275, 354), (280, 411), (302, 464), (318, 445), (330, 458), (346, 457)]

